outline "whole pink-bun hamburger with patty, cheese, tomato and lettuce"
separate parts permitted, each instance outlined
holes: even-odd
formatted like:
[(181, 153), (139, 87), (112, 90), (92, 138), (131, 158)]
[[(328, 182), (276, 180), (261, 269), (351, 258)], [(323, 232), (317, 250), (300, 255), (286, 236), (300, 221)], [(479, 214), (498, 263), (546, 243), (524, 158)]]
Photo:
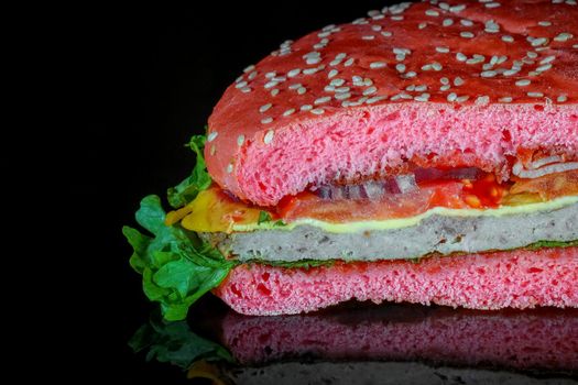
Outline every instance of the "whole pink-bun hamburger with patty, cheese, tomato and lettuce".
[(578, 8), (421, 2), (286, 41), (124, 228), (166, 319), (349, 299), (578, 307)]

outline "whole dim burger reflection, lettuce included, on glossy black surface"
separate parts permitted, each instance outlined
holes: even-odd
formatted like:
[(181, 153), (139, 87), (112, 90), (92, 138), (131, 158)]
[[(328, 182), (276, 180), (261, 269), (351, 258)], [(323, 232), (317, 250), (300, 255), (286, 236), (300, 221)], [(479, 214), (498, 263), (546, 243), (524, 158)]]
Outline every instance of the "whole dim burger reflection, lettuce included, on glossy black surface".
[(577, 383), (577, 309), (346, 304), (313, 315), (193, 318), (204, 321), (151, 320), (130, 344), (215, 384)]

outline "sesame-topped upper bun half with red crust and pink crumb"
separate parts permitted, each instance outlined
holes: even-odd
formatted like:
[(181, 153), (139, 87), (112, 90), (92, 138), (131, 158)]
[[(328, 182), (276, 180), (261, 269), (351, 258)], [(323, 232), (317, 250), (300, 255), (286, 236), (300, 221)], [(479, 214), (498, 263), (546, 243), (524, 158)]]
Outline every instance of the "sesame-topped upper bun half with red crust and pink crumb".
[[(209, 119), (212, 178), (269, 206), (337, 173), (371, 175), (402, 160), (508, 177), (517, 150), (575, 156), (578, 8), (462, 2), (459, 11), (421, 2), (329, 26), (248, 68)], [(519, 72), (503, 73), (516, 63)]]

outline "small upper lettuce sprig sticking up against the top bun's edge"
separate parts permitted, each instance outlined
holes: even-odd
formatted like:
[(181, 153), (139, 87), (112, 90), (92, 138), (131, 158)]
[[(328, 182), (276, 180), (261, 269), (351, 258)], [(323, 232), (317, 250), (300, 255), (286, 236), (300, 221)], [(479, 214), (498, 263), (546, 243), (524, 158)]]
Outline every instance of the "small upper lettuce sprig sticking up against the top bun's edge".
[(193, 173), (181, 182), (175, 187), (171, 187), (166, 193), (168, 196), (168, 204), (175, 209), (185, 206), (201, 190), (207, 189), (211, 184), (211, 178), (207, 172), (207, 164), (203, 156), (205, 143), (207, 138), (205, 135), (194, 135), (190, 138), (188, 146), (197, 155), (197, 163), (193, 168)]

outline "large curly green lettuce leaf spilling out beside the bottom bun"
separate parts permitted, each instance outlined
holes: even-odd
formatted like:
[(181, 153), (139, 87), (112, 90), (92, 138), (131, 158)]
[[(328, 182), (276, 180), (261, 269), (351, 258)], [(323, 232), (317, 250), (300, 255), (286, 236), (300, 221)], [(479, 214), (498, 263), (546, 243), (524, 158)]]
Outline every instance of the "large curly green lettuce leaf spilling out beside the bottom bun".
[(131, 266), (143, 277), (146, 297), (161, 304), (166, 320), (182, 320), (200, 296), (217, 287), (237, 264), (178, 224), (164, 223), (157, 196), (148, 196), (137, 211), (137, 222), (154, 237), (130, 227), (122, 232), (134, 252)]

